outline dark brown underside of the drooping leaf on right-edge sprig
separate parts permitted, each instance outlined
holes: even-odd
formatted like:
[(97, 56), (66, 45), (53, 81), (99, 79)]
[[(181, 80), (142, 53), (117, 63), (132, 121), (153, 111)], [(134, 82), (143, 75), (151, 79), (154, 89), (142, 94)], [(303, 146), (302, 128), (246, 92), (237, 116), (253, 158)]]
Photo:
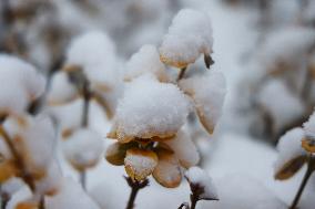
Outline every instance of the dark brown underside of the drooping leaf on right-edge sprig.
[(289, 161), (285, 163), (276, 173), (275, 179), (286, 180), (294, 176), (302, 166), (306, 163), (307, 156), (297, 156)]

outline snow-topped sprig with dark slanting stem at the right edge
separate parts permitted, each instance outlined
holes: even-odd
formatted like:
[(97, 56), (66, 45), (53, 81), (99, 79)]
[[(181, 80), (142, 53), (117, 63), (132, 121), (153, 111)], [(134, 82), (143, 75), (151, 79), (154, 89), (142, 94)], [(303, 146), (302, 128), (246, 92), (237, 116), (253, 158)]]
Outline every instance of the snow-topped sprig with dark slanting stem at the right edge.
[(307, 169), (298, 191), (291, 205), (291, 209), (296, 209), (303, 190), (315, 170), (315, 114), (311, 115), (308, 122), (302, 128), (294, 128), (281, 137), (277, 145), (280, 155), (275, 164), (275, 178), (286, 180), (296, 174), (304, 164)]

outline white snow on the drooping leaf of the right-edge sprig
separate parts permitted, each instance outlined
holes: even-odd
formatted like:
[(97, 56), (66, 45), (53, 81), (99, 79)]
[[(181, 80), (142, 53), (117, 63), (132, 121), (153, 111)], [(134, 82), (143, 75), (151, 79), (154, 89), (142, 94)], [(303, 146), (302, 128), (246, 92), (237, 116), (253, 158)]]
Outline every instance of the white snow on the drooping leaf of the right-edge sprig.
[(307, 155), (302, 148), (303, 138), (304, 132), (302, 128), (293, 128), (280, 138), (277, 144), (278, 157), (275, 163), (276, 173), (278, 173), (288, 161)]

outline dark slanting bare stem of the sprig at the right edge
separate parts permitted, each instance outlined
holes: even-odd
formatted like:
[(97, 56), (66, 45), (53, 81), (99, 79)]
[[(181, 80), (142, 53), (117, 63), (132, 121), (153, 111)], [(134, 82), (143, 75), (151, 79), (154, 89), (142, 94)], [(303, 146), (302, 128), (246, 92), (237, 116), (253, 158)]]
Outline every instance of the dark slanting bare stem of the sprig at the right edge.
[(304, 191), (304, 188), (305, 188), (309, 177), (312, 176), (312, 174), (314, 171), (314, 168), (315, 168), (315, 161), (314, 161), (314, 157), (311, 154), (309, 157), (308, 157), (307, 170), (306, 170), (306, 173), (305, 173), (305, 175), (303, 177), (302, 184), (301, 184), (301, 186), (299, 186), (299, 188), (297, 190), (297, 194), (296, 194), (296, 196), (295, 196), (295, 198), (294, 198), (289, 209), (296, 209), (297, 203), (299, 201), (299, 198), (301, 198), (301, 196), (302, 196), (302, 194)]

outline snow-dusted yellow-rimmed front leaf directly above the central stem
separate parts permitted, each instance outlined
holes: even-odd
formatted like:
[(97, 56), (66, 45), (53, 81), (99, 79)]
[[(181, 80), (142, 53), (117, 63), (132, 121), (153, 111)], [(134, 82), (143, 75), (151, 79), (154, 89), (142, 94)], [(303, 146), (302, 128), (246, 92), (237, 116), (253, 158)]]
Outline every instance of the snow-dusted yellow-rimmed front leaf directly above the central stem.
[(131, 148), (126, 150), (124, 168), (130, 178), (136, 181), (144, 180), (158, 165), (158, 156), (152, 150)]

